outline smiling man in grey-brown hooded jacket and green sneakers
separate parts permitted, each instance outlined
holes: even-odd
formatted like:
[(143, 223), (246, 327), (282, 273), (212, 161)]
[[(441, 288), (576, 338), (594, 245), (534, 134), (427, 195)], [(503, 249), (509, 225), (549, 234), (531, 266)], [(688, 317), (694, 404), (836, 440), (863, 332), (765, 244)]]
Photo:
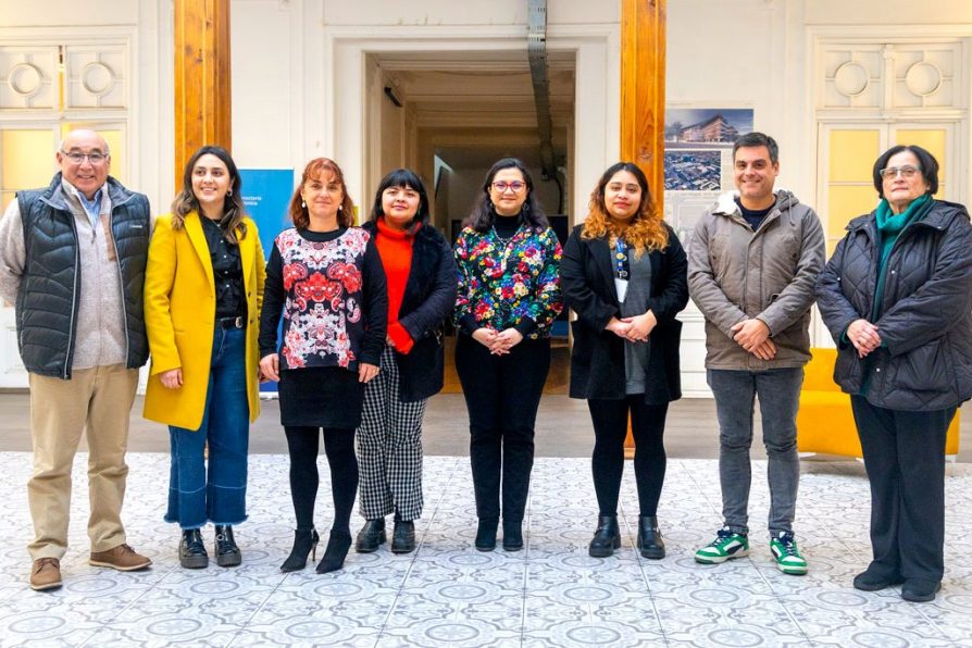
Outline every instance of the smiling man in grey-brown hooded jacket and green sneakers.
[(806, 574), (794, 538), (800, 463), (796, 414), (810, 360), (810, 307), (824, 263), (812, 209), (773, 190), (780, 174), (772, 137), (749, 133), (733, 147), (738, 191), (720, 197), (695, 228), (688, 290), (706, 316), (706, 369), (719, 418), (724, 526), (695, 559), (711, 564), (749, 553), (753, 400), (769, 459), (770, 548), (787, 574)]

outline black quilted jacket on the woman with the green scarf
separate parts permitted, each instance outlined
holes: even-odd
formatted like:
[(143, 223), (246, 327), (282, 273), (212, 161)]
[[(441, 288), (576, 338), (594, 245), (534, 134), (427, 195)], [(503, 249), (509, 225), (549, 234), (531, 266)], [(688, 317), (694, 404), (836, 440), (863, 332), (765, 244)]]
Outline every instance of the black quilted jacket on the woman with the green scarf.
[[(972, 397), (972, 225), (965, 208), (934, 201), (908, 225), (887, 259), (877, 326), (882, 346), (864, 360), (843, 340), (871, 317), (877, 282), (875, 213), (847, 235), (817, 283), (817, 304), (837, 342), (834, 381), (848, 394), (892, 410), (931, 411)], [(864, 373), (868, 372), (867, 381)]]

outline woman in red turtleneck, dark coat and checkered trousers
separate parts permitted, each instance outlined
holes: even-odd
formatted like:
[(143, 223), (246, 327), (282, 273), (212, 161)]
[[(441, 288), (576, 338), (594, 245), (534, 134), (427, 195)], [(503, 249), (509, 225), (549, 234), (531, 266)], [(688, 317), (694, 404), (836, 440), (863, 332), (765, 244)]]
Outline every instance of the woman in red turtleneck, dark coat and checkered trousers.
[(375, 237), (388, 285), (387, 344), (358, 428), (362, 553), (386, 540), (385, 516), (392, 512), (391, 551), (412, 551), (413, 521), (422, 515), (422, 419), (428, 397), (443, 388), (443, 323), (457, 277), (451, 249), (428, 219), (424, 183), (399, 169), (382, 179), (362, 226)]

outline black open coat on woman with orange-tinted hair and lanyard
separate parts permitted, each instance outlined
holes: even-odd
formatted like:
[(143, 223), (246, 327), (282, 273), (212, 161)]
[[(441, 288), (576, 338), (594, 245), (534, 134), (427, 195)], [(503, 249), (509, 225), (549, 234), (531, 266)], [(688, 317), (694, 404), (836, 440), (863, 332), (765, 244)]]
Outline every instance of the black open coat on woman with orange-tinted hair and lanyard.
[[(678, 346), (682, 323), (675, 315), (688, 303), (685, 250), (671, 227), (669, 245), (649, 253), (651, 298), (648, 308), (658, 324), (651, 332), (645, 402), (662, 404), (682, 397)], [(624, 340), (605, 331), (611, 317), (621, 317), (614, 289), (614, 264), (603, 238), (583, 239), (577, 225), (563, 249), (560, 282), (564, 303), (577, 319), (571, 323), (572, 398), (622, 399), (625, 397)]]

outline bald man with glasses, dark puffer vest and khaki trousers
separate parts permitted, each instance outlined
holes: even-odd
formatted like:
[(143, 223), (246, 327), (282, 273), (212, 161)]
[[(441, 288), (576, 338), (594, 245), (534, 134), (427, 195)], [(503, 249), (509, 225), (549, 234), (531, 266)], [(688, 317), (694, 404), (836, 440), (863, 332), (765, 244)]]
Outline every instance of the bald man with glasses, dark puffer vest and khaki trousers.
[(121, 520), (128, 414), (148, 359), (149, 201), (108, 175), (108, 142), (94, 130), (68, 133), (55, 158), (50, 186), (18, 191), (0, 219), (0, 296), (16, 307), (30, 384), (34, 589), (61, 585), (71, 469), (85, 429), (88, 562), (123, 571), (152, 563), (126, 544)]

